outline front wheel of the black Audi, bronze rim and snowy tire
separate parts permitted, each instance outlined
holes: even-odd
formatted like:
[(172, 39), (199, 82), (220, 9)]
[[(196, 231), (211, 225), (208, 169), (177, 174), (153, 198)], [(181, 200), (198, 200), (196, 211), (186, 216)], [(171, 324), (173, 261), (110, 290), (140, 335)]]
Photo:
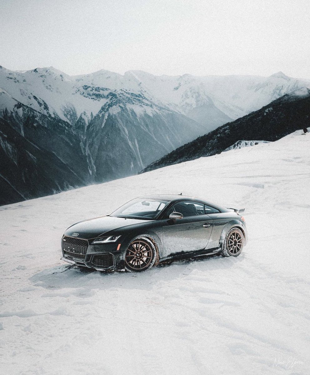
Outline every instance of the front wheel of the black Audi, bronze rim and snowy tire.
[(159, 263), (157, 246), (147, 237), (139, 237), (130, 242), (125, 254), (125, 270), (143, 272)]

